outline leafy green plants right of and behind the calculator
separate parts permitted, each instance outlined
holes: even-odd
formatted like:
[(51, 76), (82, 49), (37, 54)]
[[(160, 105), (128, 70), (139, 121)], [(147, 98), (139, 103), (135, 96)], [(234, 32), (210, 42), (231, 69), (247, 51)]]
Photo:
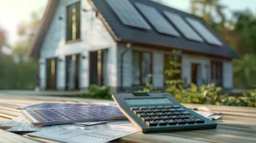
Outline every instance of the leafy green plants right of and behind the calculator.
[[(180, 66), (180, 64), (170, 61), (170, 64)], [(176, 69), (168, 69), (165, 71), (167, 77), (173, 77), (180, 73)], [(170, 78), (168, 78), (170, 79)], [(191, 84), (189, 88), (184, 88), (183, 80), (166, 80), (165, 92), (170, 93), (181, 103), (189, 104), (214, 104), (214, 105), (230, 105), (230, 106), (248, 106), (256, 107), (256, 88), (249, 93), (244, 93), (244, 97), (231, 97), (227, 94), (222, 94), (222, 88), (217, 87), (214, 83), (197, 87)], [(149, 82), (146, 88), (136, 92), (151, 92), (156, 91), (154, 86)]]

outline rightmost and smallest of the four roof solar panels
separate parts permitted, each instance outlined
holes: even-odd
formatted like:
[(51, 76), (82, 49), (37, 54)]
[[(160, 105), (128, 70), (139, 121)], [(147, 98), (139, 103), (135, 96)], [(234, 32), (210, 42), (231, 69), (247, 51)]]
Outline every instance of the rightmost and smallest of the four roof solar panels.
[(203, 36), (203, 39), (206, 40), (206, 42), (208, 42), (209, 44), (212, 45), (218, 45), (218, 46), (222, 46), (222, 42), (219, 41), (219, 39), (217, 39), (216, 36), (214, 36), (213, 34), (211, 34), (210, 31), (208, 31), (208, 29), (203, 26), (202, 23), (200, 23), (199, 21), (192, 19), (192, 18), (186, 18), (187, 22), (193, 27), (195, 28), (195, 30), (201, 35)]

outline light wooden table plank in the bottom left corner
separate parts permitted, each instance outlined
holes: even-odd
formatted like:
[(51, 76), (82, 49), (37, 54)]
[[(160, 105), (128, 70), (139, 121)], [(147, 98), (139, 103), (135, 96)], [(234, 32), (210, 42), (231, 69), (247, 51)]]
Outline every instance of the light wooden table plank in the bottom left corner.
[[(2, 139), (4, 142), (15, 142), (15, 143), (39, 143), (38, 141), (34, 139), (29, 139), (24, 136), (20, 136), (18, 134), (13, 134), (4, 130), (0, 129), (0, 139)], [(1, 140), (0, 140), (1, 141)]]

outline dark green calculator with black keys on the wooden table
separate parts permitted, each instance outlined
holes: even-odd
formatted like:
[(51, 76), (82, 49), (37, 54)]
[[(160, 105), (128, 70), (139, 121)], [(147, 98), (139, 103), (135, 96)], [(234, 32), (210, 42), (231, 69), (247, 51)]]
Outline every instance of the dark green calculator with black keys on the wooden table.
[(217, 123), (187, 109), (170, 93), (114, 93), (112, 97), (143, 133), (217, 128)]

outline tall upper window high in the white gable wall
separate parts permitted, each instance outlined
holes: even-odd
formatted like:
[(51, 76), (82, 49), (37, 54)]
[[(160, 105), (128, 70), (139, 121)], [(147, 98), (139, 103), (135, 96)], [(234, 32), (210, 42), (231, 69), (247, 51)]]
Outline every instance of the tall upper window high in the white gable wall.
[(67, 7), (66, 41), (80, 39), (80, 2)]

